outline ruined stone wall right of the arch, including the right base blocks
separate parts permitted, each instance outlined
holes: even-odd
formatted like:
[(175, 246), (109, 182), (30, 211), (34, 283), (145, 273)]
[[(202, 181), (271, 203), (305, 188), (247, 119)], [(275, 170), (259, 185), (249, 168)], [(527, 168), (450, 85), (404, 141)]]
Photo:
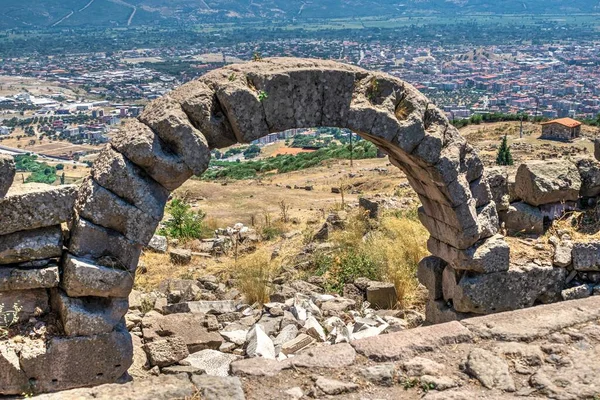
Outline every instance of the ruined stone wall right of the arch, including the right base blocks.
[(546, 243), (536, 238), (568, 211), (587, 210), (600, 220), (600, 163), (592, 158), (529, 161), (518, 168), (490, 168), (486, 177), (502, 230), (519, 237), (515, 240), (528, 238), (534, 257), (510, 260), (502, 243), (493, 253), (482, 246), (473, 254), (473, 260), (482, 261), (479, 270), (465, 271), (435, 256), (424, 259), (419, 280), (429, 289), (428, 320), (446, 322), (599, 293), (599, 241), (576, 242), (569, 232), (553, 231), (552, 255), (544, 258)]

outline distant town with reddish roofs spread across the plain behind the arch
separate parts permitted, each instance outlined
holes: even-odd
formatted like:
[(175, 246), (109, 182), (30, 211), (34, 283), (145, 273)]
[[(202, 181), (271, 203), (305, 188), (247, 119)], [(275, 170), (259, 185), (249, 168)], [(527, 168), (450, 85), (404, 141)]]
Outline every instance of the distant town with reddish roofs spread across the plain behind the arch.
[(107, 142), (121, 120), (138, 116), (148, 101), (256, 54), (329, 58), (388, 72), (425, 92), (451, 120), (489, 113), (589, 120), (600, 114), (600, 46), (593, 42), (474, 48), (298, 39), (4, 59), (0, 146), (62, 140), (72, 146), (49, 154), (77, 159)]

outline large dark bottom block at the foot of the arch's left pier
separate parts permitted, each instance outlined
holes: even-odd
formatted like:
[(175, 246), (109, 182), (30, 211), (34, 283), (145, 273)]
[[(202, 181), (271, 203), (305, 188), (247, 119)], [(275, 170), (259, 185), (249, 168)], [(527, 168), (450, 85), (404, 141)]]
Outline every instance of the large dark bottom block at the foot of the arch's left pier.
[(25, 376), (35, 378), (30, 380), (33, 393), (116, 382), (133, 357), (131, 337), (122, 326), (107, 334), (54, 337), (47, 345), (40, 343), (39, 348), (21, 352)]

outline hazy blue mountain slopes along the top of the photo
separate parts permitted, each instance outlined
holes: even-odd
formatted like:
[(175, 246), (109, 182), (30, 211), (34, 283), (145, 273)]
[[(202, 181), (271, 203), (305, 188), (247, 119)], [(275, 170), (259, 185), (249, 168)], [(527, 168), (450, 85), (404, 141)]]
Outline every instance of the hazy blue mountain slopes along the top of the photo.
[(0, 29), (456, 14), (600, 13), (599, 0), (2, 0)]

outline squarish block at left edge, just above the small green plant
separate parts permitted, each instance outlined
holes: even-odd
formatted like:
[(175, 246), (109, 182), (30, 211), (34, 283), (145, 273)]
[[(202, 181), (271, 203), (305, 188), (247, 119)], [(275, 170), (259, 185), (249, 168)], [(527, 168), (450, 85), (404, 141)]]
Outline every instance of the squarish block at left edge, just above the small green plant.
[(0, 304), (3, 305), (0, 326), (25, 322), (50, 310), (46, 289), (0, 292)]

